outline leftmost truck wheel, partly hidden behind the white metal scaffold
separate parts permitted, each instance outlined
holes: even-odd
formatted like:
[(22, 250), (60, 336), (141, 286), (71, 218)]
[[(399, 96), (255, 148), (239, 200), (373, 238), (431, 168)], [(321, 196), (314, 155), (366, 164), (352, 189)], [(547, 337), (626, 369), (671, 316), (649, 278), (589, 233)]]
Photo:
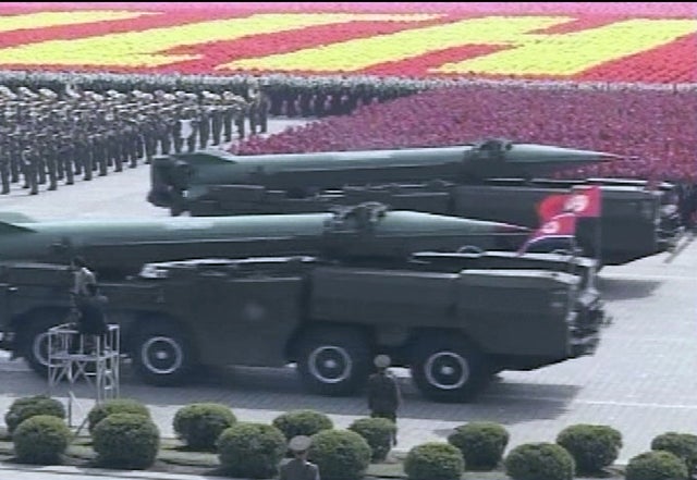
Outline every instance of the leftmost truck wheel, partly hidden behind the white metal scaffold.
[(68, 312), (42, 311), (33, 316), (19, 334), (19, 354), (37, 374), (48, 378), (48, 329), (65, 323)]

